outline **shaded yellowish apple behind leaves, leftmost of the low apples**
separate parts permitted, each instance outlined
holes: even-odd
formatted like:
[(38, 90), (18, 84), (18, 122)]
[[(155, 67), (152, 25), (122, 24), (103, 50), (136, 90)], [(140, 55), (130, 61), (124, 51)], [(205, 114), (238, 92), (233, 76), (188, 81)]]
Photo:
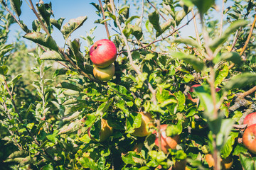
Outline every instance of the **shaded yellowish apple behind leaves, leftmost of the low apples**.
[(88, 135), (91, 138), (91, 140), (95, 141), (95, 142), (104, 142), (105, 140), (107, 140), (113, 133), (113, 129), (112, 127), (110, 127), (110, 125), (107, 124), (107, 120), (102, 119), (101, 120), (101, 130), (100, 130), (100, 134), (99, 134), (99, 140), (96, 140), (94, 137), (92, 137), (90, 135), (90, 128), (88, 129)]

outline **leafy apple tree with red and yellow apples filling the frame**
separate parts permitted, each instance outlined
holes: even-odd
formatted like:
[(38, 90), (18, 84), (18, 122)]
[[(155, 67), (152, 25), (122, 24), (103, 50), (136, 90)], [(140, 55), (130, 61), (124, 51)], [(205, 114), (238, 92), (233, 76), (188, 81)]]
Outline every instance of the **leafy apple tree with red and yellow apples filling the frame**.
[[(1, 125), (8, 132), (3, 140), (16, 146), (4, 164), (255, 169), (256, 150), (243, 139), (250, 134), (253, 146), (256, 134), (243, 120), (256, 110), (256, 2), (218, 2), (93, 1), (95, 23), (106, 30), (105, 39), (96, 41), (95, 28), (70, 38), (90, 16), (65, 21), (54, 18), (51, 3), (2, 0), (2, 13), (37, 45), (29, 53), (36, 59), (33, 87), (26, 87), (34, 100), (21, 101), (22, 74), (9, 72), (13, 47), (1, 38)], [(21, 5), (36, 15), (33, 23), (20, 18)], [(182, 28), (191, 23), (196, 36), (182, 38)], [(64, 45), (53, 31), (63, 35)], [(49, 72), (53, 64), (58, 68)]]

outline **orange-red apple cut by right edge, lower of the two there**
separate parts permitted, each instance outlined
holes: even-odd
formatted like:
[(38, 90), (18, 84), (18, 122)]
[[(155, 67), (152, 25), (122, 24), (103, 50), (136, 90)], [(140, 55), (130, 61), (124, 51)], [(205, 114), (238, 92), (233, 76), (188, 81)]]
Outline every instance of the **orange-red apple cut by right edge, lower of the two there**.
[(256, 124), (246, 128), (242, 135), (242, 143), (250, 152), (256, 154)]

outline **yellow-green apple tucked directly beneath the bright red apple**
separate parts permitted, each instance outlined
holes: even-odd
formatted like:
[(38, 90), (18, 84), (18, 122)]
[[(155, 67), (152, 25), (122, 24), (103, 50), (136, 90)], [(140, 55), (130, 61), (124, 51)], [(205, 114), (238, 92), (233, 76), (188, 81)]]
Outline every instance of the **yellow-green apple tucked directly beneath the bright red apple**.
[(106, 68), (94, 67), (93, 75), (98, 80), (107, 81), (112, 79), (112, 77), (114, 76), (114, 71), (115, 69), (113, 64), (110, 64), (110, 66)]

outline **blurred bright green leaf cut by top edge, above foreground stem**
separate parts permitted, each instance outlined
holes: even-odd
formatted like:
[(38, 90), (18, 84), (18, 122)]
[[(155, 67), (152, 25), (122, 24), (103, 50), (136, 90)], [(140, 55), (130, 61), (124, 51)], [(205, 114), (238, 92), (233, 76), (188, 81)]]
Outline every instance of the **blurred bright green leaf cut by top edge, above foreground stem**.
[(210, 6), (213, 6), (215, 0), (182, 0), (186, 6), (195, 5), (198, 8), (199, 13), (203, 14), (208, 11)]

